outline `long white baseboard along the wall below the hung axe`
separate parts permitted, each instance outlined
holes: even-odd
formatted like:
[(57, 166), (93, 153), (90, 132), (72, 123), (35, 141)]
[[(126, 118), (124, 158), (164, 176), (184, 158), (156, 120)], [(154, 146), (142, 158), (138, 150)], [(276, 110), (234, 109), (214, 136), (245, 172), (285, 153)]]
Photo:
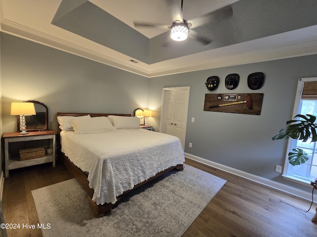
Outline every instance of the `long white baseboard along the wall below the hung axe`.
[[(304, 198), (304, 199), (310, 200), (310, 201), (312, 200), (312, 193), (305, 192), (305, 191), (302, 191), (300, 189), (295, 189), (295, 188), (292, 188), (290, 186), (287, 186), (287, 185), (284, 185), (284, 184), (280, 184), (280, 183), (271, 181), (269, 179), (265, 179), (265, 178), (262, 178), (260, 176), (257, 176), (257, 175), (254, 175), (254, 174), (250, 174), (250, 173), (238, 170), (238, 169), (234, 169), (234, 168), (231, 168), (229, 166), (225, 166), (225, 165), (213, 162), (211, 160), (208, 160), (208, 159), (205, 159), (205, 158), (201, 158), (201, 157), (197, 157), (197, 156), (194, 156), (194, 155), (191, 155), (191, 154), (188, 154), (188, 153), (185, 153), (185, 157), (189, 158), (189, 159), (192, 159), (192, 160), (196, 160), (196, 161), (198, 161), (200, 163), (209, 165), (211, 167), (226, 171), (228, 173), (235, 174), (237, 176), (252, 180), (254, 182), (263, 184), (265, 186), (277, 189), (279, 191), (294, 195), (296, 197), (301, 197), (301, 198)], [(317, 195), (314, 195), (314, 203), (317, 203)]]

